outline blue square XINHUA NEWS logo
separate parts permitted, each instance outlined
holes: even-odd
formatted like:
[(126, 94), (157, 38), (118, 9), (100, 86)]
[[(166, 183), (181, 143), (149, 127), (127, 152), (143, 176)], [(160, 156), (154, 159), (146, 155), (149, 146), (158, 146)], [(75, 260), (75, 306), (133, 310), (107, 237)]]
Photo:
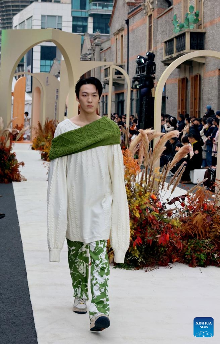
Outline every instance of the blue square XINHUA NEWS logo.
[(193, 321), (194, 337), (208, 338), (214, 335), (214, 320), (213, 318), (194, 318)]

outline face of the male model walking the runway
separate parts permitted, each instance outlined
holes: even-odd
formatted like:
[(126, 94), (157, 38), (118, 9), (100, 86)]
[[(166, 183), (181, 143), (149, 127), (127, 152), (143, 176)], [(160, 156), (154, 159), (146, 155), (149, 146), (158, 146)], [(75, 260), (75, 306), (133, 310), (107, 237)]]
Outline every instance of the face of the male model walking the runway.
[(99, 103), (99, 93), (93, 84), (82, 85), (79, 90), (79, 98), (76, 100), (80, 103), (80, 108), (88, 113), (96, 110)]

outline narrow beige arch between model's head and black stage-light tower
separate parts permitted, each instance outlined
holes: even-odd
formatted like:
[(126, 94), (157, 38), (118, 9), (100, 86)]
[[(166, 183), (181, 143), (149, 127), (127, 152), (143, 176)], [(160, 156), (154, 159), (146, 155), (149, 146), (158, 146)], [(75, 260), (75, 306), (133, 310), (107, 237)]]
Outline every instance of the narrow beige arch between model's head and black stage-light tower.
[(119, 66), (111, 65), (109, 71), (109, 90), (108, 90), (108, 118), (111, 118), (111, 108), (112, 108), (112, 86), (113, 86), (113, 68), (120, 71), (126, 79), (127, 82), (127, 104), (126, 104), (126, 128), (129, 128), (129, 115), (130, 115), (130, 98), (131, 98), (131, 82), (128, 74), (125, 70)]

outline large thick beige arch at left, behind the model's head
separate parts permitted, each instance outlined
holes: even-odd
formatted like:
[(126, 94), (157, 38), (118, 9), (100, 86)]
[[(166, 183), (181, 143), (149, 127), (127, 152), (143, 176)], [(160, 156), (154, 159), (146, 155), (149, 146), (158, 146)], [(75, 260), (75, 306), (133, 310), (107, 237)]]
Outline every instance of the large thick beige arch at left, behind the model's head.
[[(112, 65), (113, 62), (80, 61), (81, 36), (56, 29), (2, 30), (1, 75), (0, 75), (0, 113), (5, 123), (11, 118), (11, 85), (16, 66), (33, 46), (53, 42), (64, 57), (68, 71), (69, 94), (81, 75), (90, 69)], [(69, 113), (77, 115), (77, 102), (69, 100)]]

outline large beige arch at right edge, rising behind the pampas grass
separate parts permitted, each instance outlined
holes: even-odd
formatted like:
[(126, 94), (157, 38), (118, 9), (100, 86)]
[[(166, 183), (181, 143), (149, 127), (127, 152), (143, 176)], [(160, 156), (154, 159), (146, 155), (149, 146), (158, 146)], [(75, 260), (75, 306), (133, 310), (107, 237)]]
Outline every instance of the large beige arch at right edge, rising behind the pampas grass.
[[(176, 67), (178, 67), (181, 63), (189, 60), (190, 58), (195, 57), (215, 57), (220, 59), (220, 52), (213, 51), (213, 50), (198, 50), (194, 51), (192, 53), (185, 54), (179, 58), (177, 58), (175, 61), (173, 61), (163, 72), (161, 75), (156, 91), (155, 91), (155, 99), (154, 99), (154, 129), (157, 131), (161, 130), (161, 106), (162, 106), (162, 93), (163, 93), (163, 87), (166, 83), (166, 80), (169, 78), (170, 74), (174, 71)], [(157, 140), (154, 140), (154, 145), (157, 142)], [(157, 164), (158, 167), (159, 162)], [(217, 154), (217, 167), (216, 167), (216, 179), (220, 180), (220, 149), (218, 149)]]

